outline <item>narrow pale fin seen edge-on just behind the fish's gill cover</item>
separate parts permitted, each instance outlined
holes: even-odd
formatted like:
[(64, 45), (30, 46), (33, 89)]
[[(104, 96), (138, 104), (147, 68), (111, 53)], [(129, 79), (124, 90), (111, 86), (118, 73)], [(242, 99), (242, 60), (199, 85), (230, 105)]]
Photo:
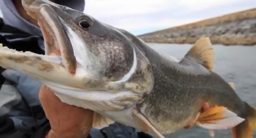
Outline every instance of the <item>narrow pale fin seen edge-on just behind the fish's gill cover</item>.
[(133, 118), (136, 119), (138, 124), (140, 125), (141, 129), (145, 132), (153, 132), (155, 133), (159, 138), (164, 138), (164, 136), (156, 130), (156, 128), (148, 121), (148, 119), (143, 116), (140, 112), (137, 110), (132, 111)]

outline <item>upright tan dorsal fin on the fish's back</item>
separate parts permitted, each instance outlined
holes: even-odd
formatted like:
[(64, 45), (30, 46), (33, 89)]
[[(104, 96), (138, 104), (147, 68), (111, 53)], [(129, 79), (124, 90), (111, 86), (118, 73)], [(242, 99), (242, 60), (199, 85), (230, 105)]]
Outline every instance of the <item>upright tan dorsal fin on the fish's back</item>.
[(214, 63), (214, 53), (210, 39), (206, 37), (197, 40), (193, 47), (191, 47), (191, 49), (185, 55), (185, 57), (188, 56), (197, 59), (204, 67), (212, 70)]

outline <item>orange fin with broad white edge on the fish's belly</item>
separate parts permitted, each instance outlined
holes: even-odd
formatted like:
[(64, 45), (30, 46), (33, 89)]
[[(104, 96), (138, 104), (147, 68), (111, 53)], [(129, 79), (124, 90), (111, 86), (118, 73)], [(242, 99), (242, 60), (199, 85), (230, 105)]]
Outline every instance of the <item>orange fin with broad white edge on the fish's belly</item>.
[(210, 130), (228, 129), (235, 127), (244, 120), (245, 119), (238, 117), (234, 112), (231, 112), (226, 107), (215, 106), (201, 113), (196, 124), (202, 128)]

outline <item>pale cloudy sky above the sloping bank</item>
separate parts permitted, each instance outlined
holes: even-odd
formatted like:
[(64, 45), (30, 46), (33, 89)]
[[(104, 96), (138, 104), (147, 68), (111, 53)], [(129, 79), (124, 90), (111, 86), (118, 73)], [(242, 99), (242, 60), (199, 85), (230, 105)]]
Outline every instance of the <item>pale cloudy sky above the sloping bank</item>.
[(84, 12), (139, 35), (250, 8), (256, 0), (86, 0)]

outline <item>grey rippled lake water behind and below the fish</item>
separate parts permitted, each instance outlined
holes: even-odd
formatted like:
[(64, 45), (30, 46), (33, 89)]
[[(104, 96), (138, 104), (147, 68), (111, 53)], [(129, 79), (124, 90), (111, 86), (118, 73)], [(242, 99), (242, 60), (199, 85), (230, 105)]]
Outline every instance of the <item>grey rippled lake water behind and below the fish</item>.
[[(149, 45), (170, 56), (183, 58), (191, 44)], [(236, 93), (251, 106), (256, 107), (256, 46), (213, 45), (215, 63), (213, 71), (227, 82), (234, 82)], [(210, 138), (208, 130), (199, 127), (183, 129), (166, 136), (168, 138)], [(215, 131), (215, 138), (231, 138), (230, 130)], [(256, 138), (256, 133), (254, 133)]]

